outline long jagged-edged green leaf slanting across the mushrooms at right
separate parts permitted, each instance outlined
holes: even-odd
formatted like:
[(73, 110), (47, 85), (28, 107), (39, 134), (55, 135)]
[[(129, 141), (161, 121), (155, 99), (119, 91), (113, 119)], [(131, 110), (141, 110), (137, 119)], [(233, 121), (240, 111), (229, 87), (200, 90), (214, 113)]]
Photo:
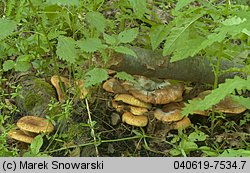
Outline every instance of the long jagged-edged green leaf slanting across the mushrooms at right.
[(226, 79), (225, 83), (219, 85), (211, 94), (207, 95), (203, 100), (190, 100), (189, 104), (182, 109), (182, 115), (188, 115), (196, 110), (207, 110), (213, 105), (219, 103), (227, 95), (234, 92), (234, 90), (248, 89), (250, 90), (250, 77), (242, 79), (235, 76), (234, 79)]

